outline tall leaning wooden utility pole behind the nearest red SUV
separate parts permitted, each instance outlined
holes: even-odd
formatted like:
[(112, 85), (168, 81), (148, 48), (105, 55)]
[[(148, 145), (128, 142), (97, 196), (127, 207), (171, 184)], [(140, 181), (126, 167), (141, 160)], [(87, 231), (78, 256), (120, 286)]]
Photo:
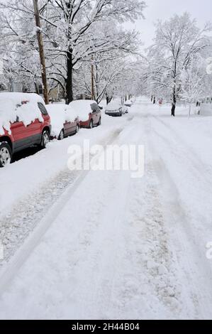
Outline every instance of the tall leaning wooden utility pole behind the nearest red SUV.
[(41, 24), (40, 24), (40, 15), (38, 11), (38, 0), (33, 0), (34, 12), (35, 12), (35, 24), (37, 28), (37, 37), (38, 37), (38, 47), (40, 53), (40, 65), (41, 65), (41, 75), (43, 81), (43, 97), (45, 99), (45, 104), (49, 104), (48, 97), (48, 82), (46, 76), (46, 67), (45, 67), (45, 53), (43, 47), (43, 36), (41, 32)]

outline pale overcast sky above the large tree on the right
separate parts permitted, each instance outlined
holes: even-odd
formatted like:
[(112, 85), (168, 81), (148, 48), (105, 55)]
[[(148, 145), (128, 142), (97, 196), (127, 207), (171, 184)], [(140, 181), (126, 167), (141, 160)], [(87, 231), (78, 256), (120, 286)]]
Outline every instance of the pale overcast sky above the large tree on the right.
[[(188, 11), (192, 18), (196, 18), (199, 26), (206, 21), (212, 21), (212, 0), (146, 0), (144, 11), (145, 20), (135, 23), (135, 28), (142, 33), (145, 46), (151, 44), (157, 19), (166, 20), (174, 13), (182, 14)], [(133, 25), (134, 26), (134, 25)]]

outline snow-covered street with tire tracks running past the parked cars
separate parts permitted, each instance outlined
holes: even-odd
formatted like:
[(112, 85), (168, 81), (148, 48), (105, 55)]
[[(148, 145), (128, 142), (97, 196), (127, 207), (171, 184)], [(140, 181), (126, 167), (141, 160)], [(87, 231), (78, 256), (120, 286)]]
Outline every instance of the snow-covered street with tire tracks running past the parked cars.
[[(138, 99), (103, 123), (1, 171), (0, 318), (212, 318), (211, 117)], [(68, 171), (85, 137), (145, 145), (144, 177)]]

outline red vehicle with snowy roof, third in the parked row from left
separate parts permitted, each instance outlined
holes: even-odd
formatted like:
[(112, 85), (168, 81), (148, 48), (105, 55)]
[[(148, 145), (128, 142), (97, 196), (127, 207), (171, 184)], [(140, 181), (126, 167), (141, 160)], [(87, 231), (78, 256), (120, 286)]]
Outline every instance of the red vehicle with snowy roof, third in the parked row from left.
[(69, 104), (78, 114), (80, 127), (92, 129), (101, 125), (101, 109), (99, 105), (90, 99), (79, 99)]

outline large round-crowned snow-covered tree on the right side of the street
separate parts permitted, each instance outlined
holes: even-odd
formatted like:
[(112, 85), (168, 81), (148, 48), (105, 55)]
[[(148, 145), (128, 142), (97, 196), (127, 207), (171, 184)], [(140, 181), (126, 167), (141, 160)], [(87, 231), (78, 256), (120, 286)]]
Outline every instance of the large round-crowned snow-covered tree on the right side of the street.
[(206, 23), (201, 30), (187, 13), (156, 25), (155, 43), (148, 50), (147, 77), (154, 90), (169, 95), (173, 116), (182, 88), (182, 72), (189, 68), (191, 60), (211, 46), (209, 31), (211, 24)]

